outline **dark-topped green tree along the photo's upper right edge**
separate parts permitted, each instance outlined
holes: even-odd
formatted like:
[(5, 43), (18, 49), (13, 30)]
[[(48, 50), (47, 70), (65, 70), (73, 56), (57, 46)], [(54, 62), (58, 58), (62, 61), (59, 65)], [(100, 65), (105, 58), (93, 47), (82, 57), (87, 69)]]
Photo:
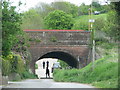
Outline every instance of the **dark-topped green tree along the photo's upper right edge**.
[(111, 11), (108, 13), (104, 31), (114, 40), (120, 39), (120, 2), (111, 3)]

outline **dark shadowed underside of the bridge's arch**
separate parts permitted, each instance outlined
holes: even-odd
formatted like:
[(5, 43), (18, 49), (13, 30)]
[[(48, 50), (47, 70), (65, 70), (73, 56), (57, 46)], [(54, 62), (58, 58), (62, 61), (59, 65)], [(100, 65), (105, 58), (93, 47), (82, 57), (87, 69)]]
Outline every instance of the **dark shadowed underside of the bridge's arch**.
[(39, 59), (43, 58), (56, 58), (65, 61), (69, 66), (73, 68), (77, 68), (78, 61), (70, 54), (61, 52), (61, 51), (55, 51), (55, 52), (49, 52), (47, 54), (44, 54)]

